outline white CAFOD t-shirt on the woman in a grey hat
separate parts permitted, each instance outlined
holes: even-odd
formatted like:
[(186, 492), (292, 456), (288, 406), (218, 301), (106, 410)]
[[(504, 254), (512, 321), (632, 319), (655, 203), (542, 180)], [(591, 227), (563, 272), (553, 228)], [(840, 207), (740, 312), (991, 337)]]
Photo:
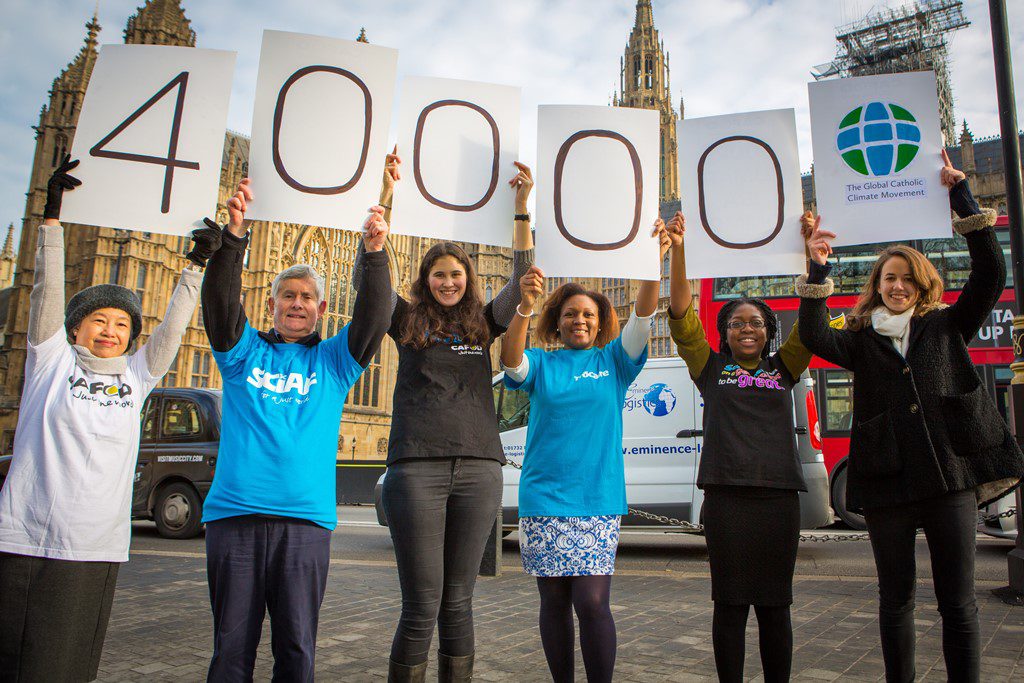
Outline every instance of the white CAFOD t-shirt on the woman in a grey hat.
[(75, 362), (61, 329), (29, 344), (14, 458), (0, 492), (0, 551), (127, 562), (142, 403), (160, 381), (145, 351), (124, 375)]

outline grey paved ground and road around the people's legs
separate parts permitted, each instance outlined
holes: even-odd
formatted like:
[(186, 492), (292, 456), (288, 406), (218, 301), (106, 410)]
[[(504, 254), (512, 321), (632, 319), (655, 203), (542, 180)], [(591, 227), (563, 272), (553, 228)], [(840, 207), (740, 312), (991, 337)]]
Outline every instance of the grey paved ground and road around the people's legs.
[[(339, 508), (342, 524), (335, 536), (342, 540), (365, 537), (359, 548), (389, 544), (386, 530), (370, 523), (371, 513), (372, 509)], [(211, 653), (212, 618), (202, 539), (158, 540), (145, 523), (134, 527), (132, 557), (119, 575), (98, 680), (203, 680)], [(638, 558), (643, 555), (643, 547), (652, 546), (657, 556), (663, 552), (658, 546), (668, 543), (664, 535), (637, 536), (629, 537), (628, 544)], [(694, 537), (686, 537), (685, 542), (673, 540), (670, 545), (678, 546), (677, 552), (689, 558), (673, 568), (640, 568), (649, 566), (640, 561), (620, 564), (612, 584), (612, 612), (618, 636), (616, 681), (715, 680), (711, 579), (706, 558), (694, 550), (701, 543)], [(924, 545), (923, 541), (919, 544)], [(853, 546), (856, 548), (851, 550)], [(979, 554), (981, 547), (979, 541)], [(536, 583), (519, 568), (517, 548), (513, 535), (504, 544), (502, 575), (477, 582), (477, 681), (550, 680), (537, 630)], [(994, 553), (1005, 556), (1012, 544), (995, 541), (988, 548), (994, 564)], [(855, 542), (805, 543), (800, 555), (839, 552), (856, 553), (861, 558), (866, 553), (869, 562), (870, 549)], [(654, 562), (654, 566), (664, 564), (663, 559)], [(829, 566), (816, 560), (798, 562), (793, 606), (794, 680), (882, 680), (876, 613), (878, 585), (871, 572), (859, 568), (867, 566), (864, 561), (853, 566), (865, 575), (841, 575), (827, 569)], [(927, 561), (919, 563), (919, 569), (927, 569)], [(991, 595), (991, 589), (1004, 584), (984, 579), (977, 582), (983, 681), (1024, 680), (1024, 607), (1006, 605)], [(385, 680), (399, 607), (393, 559), (369, 551), (346, 557), (344, 548), (335, 545), (321, 611), (317, 680)], [(944, 681), (941, 620), (931, 581), (926, 578), (918, 583), (915, 625), (919, 680)], [(746, 676), (760, 681), (756, 629), (752, 613), (746, 635)], [(269, 680), (272, 665), (267, 623), (255, 680)], [(427, 680), (435, 680), (434, 667), (431, 654)], [(578, 650), (577, 680), (584, 679)]]

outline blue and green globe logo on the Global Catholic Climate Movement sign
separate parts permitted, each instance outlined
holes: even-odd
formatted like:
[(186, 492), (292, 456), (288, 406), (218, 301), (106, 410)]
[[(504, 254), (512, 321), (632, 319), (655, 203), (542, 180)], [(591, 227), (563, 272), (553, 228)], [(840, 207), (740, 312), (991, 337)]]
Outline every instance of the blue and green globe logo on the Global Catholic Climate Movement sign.
[(899, 104), (870, 102), (839, 124), (836, 145), (846, 165), (861, 175), (899, 173), (921, 148), (918, 120)]

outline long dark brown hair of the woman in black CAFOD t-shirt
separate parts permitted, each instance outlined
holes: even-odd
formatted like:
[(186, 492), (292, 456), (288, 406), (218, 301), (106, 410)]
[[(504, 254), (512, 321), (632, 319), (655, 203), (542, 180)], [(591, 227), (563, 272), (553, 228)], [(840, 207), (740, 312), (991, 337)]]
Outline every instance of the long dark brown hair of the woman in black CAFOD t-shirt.
[[(437, 303), (430, 292), (430, 270), (437, 259), (444, 256), (455, 258), (466, 271), (466, 292), (454, 306)], [(438, 339), (450, 337), (458, 337), (469, 344), (486, 344), (490, 340), (476, 268), (459, 245), (439, 242), (431, 247), (420, 261), (420, 270), (410, 294), (412, 301), (401, 329), (401, 344), (423, 349)]]

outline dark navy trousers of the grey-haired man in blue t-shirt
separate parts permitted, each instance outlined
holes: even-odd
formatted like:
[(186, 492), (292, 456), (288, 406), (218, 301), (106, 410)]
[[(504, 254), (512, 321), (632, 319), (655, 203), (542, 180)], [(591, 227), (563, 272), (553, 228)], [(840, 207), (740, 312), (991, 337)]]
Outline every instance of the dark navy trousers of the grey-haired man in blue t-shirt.
[(312, 522), (259, 515), (208, 522), (213, 658), (207, 680), (253, 680), (269, 612), (273, 680), (312, 681), (330, 565), (331, 531)]

